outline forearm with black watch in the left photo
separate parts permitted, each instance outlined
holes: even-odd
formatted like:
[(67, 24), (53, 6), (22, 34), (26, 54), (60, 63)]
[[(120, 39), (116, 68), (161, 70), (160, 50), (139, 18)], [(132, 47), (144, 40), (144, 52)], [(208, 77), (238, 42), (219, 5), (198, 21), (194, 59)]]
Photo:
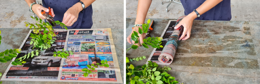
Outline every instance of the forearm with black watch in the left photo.
[[(96, 0), (80, 0), (84, 3), (85, 8), (88, 7), (89, 5), (91, 5), (94, 1)], [(77, 9), (78, 12), (82, 11), (82, 5), (81, 3), (76, 3), (75, 5), (73, 5), (72, 7), (75, 7)]]

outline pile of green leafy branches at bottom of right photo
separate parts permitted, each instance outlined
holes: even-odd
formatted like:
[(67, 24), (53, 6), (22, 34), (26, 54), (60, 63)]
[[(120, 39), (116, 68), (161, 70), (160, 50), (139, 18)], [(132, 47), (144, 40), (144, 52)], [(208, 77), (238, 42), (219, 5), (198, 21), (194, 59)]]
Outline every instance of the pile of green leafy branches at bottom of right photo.
[[(171, 77), (167, 73), (168, 70), (171, 70), (169, 66), (164, 66), (163, 68), (158, 67), (158, 64), (155, 62), (148, 61), (148, 64), (143, 66), (134, 67), (132, 64), (126, 65), (126, 84), (176, 84), (178, 81), (174, 80), (174, 77)], [(135, 76), (133, 76), (135, 75)]]

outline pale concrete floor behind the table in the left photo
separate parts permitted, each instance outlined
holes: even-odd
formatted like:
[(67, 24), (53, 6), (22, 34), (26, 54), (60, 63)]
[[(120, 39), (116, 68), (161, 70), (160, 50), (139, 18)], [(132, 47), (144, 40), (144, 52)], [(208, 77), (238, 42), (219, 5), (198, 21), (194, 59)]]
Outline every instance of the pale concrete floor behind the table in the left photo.
[[(92, 28), (123, 29), (124, 0), (96, 0), (92, 8)], [(25, 1), (0, 0), (0, 11), (0, 28), (26, 28), (25, 21), (36, 23), (31, 19), (33, 13), (29, 12)]]

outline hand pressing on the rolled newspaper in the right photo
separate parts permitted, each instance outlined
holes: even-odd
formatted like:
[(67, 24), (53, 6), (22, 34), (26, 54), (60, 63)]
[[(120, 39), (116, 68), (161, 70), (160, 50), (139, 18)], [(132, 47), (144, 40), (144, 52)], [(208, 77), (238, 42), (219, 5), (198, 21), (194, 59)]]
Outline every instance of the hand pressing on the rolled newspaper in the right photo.
[[(181, 20), (181, 22), (174, 27), (174, 29), (179, 28), (181, 25), (184, 27), (183, 33), (182, 33), (181, 37), (179, 38), (179, 40), (186, 40), (186, 39), (190, 38), (190, 34), (191, 34), (190, 32), (191, 32), (194, 16), (191, 16), (191, 15), (189, 16), (189, 15), (184, 17)], [(185, 36), (185, 35), (187, 35), (187, 36)]]

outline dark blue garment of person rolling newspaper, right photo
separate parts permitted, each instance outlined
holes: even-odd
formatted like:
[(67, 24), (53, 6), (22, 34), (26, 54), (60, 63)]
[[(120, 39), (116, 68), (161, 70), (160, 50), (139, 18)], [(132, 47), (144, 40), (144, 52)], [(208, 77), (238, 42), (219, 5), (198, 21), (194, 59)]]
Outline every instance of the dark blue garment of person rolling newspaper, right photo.
[[(184, 8), (184, 14), (188, 15), (193, 12), (194, 9), (198, 8), (206, 0), (181, 0)], [(231, 3), (230, 0), (223, 0), (218, 3), (215, 7), (211, 8), (209, 11), (205, 12), (196, 18), (195, 20), (231, 20)]]

